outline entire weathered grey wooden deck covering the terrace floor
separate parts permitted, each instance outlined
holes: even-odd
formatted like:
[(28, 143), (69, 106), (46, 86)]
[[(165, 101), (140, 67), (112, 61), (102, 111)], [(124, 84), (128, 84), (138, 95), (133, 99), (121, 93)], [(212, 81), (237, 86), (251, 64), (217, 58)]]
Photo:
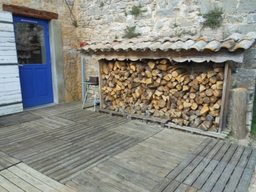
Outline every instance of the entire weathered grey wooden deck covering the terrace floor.
[[(256, 162), (252, 148), (87, 111), (81, 105), (0, 116), (0, 191), (13, 191), (13, 185), (23, 191), (207, 191), (208, 178), (223, 186), (225, 180), (227, 185), (228, 180), (237, 182), (235, 173), (242, 175), (236, 187), (248, 187)], [(209, 175), (214, 168), (215, 175)], [(221, 168), (225, 174), (218, 172)], [(206, 180), (203, 173), (209, 175)], [(32, 181), (22, 175), (31, 175)], [(41, 189), (33, 183), (36, 175), (42, 178), (38, 182), (52, 180), (55, 186)]]

